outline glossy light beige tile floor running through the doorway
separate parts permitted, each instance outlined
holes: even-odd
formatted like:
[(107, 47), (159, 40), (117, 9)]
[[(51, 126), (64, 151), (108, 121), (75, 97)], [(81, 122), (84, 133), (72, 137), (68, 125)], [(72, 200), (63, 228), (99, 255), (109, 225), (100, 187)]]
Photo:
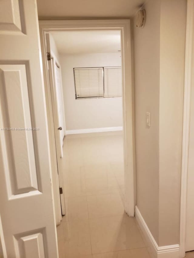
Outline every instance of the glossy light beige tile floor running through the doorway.
[(122, 132), (65, 137), (66, 215), (57, 227), (60, 258), (151, 258), (124, 210)]

